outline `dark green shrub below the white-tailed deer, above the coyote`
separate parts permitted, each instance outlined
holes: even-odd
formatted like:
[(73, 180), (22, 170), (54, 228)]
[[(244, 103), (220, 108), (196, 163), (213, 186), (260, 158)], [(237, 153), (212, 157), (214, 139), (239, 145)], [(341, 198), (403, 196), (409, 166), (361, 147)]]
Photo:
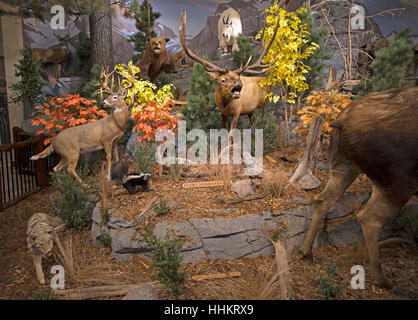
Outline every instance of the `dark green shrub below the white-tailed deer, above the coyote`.
[(80, 231), (91, 219), (86, 208), (89, 192), (66, 171), (52, 173), (51, 177), (52, 185), (59, 192), (59, 195), (51, 196), (53, 214), (61, 217), (75, 231)]

